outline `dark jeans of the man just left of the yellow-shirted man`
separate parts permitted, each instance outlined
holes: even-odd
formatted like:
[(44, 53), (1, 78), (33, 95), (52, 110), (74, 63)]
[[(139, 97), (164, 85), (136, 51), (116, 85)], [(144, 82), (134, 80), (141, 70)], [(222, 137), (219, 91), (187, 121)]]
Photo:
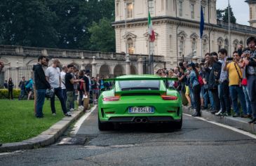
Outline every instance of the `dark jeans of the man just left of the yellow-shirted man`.
[(229, 82), (224, 81), (219, 85), (219, 98), (220, 98), (220, 105), (222, 107), (222, 113), (226, 112), (231, 113), (231, 104), (229, 98)]

